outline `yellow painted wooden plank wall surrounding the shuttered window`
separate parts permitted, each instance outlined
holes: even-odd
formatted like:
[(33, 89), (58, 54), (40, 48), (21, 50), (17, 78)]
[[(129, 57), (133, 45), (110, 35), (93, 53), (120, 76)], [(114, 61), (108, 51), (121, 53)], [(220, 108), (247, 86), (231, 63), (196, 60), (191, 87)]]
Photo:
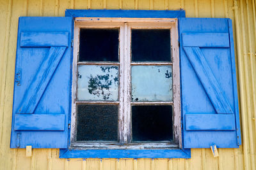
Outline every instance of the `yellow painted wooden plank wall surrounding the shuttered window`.
[[(0, 169), (256, 169), (255, 0), (0, 0)], [(58, 149), (10, 149), (20, 16), (64, 16), (65, 9), (186, 10), (186, 17), (232, 18), (243, 145), (192, 149), (191, 159), (58, 159)]]

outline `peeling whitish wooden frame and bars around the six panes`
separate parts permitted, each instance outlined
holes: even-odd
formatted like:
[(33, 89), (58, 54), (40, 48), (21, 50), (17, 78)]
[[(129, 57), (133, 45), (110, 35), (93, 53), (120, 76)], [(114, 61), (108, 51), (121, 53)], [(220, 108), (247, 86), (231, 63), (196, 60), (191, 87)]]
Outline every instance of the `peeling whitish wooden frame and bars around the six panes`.
[[(77, 62), (79, 57), (79, 32), (81, 28), (119, 28), (119, 62)], [(170, 29), (172, 62), (131, 62), (131, 29)], [(177, 18), (76, 18), (74, 22), (74, 57), (72, 67), (72, 114), (70, 148), (90, 149), (152, 149), (182, 148), (180, 112), (180, 68)], [(76, 101), (77, 64), (119, 66), (119, 101)], [(172, 65), (173, 102), (131, 102), (132, 65)], [(124, 93), (123, 93), (124, 92)], [(118, 142), (77, 142), (76, 104), (119, 104)], [(131, 143), (131, 104), (172, 104), (173, 142)]]

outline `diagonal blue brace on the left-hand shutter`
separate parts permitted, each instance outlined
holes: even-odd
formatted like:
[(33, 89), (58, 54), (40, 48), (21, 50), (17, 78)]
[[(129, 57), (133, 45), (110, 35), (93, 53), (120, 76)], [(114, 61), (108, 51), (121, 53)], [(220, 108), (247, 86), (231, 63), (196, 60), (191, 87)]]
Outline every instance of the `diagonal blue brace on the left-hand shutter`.
[(33, 113), (35, 111), (65, 50), (65, 46), (52, 46), (50, 48), (49, 55), (45, 55), (31, 84), (28, 86), (17, 113)]

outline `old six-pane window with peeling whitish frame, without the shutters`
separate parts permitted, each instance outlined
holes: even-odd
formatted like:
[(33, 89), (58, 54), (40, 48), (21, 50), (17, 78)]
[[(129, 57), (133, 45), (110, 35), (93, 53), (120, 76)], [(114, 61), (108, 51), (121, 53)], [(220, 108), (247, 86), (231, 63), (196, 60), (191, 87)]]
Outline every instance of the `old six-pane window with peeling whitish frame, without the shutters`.
[(76, 18), (71, 147), (181, 146), (177, 19)]

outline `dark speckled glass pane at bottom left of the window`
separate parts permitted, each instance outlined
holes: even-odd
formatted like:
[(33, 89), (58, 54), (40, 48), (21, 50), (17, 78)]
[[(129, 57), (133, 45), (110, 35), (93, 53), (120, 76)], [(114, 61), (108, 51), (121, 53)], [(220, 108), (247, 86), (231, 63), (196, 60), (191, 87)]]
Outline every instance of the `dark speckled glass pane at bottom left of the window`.
[(117, 141), (118, 106), (77, 104), (77, 141)]

